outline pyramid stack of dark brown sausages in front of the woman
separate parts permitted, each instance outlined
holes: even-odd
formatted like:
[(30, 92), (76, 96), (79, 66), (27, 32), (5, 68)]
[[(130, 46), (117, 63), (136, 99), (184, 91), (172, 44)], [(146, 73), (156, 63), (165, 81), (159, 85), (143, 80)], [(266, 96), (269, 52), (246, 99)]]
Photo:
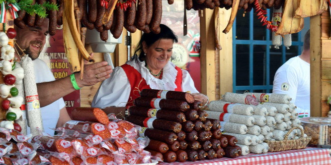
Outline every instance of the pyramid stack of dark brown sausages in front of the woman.
[(125, 119), (142, 126), (139, 136), (151, 139), (145, 150), (153, 156), (172, 163), (240, 155), (236, 138), (222, 136), (220, 121), (207, 118), (201, 102), (191, 94), (144, 89), (140, 96)]

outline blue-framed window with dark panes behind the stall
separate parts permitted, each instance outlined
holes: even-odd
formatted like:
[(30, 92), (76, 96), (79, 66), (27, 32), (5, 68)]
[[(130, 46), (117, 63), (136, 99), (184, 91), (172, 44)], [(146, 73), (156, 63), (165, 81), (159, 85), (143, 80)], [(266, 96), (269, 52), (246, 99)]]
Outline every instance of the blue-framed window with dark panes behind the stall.
[[(267, 9), (267, 13), (270, 20), (272, 9)], [(301, 32), (292, 34), (289, 50), (284, 45), (276, 50), (271, 36), (253, 10), (248, 13), (243, 9), (238, 11), (233, 24), (233, 92), (272, 93), (276, 70), (289, 58), (301, 54)]]

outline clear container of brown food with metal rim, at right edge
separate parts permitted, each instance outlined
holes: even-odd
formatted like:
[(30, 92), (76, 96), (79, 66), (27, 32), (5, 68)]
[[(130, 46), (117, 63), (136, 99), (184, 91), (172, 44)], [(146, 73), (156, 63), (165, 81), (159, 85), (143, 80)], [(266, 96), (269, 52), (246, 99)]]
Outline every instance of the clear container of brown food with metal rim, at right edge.
[(303, 117), (300, 120), (305, 134), (312, 137), (309, 146), (331, 148), (331, 118)]

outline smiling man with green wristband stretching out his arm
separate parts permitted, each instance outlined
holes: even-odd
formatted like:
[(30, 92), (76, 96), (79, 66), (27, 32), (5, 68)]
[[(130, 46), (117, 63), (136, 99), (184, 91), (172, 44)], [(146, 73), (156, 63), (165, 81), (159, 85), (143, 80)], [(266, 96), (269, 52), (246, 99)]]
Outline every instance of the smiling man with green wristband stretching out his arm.
[[(15, 47), (18, 51), (15, 52), (15, 57), (20, 61), (20, 55), (23, 54), (20, 50), (23, 50), (26, 55), (29, 55), (29, 57), (34, 60), (44, 129), (46, 133), (54, 135), (54, 131), (49, 129), (49, 127), (54, 128), (62, 126), (70, 120), (62, 97), (77, 89), (75, 89), (70, 76), (55, 80), (46, 62), (38, 58), (46, 43), (48, 19), (44, 20), (44, 24), (41, 27), (26, 26), (20, 29), (15, 26), (15, 30), (17, 33), (15, 37), (17, 44), (15, 44)], [(18, 48), (17, 45), (20, 48)], [(109, 78), (112, 68), (107, 64), (106, 61), (85, 64), (83, 80), (80, 79), (80, 74), (74, 74), (78, 86), (76, 88), (92, 86)]]

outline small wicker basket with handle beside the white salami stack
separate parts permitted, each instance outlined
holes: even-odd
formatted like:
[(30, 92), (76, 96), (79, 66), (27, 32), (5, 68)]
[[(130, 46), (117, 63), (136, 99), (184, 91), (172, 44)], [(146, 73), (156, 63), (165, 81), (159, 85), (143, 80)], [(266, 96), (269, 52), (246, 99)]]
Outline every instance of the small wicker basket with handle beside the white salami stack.
[[(300, 129), (301, 131), (301, 137), (299, 139), (293, 139), (293, 140), (287, 140), (289, 134), (294, 129)], [(306, 148), (308, 145), (308, 142), (312, 139), (312, 137), (304, 137), (304, 131), (300, 127), (292, 127), (287, 134), (285, 135), (284, 140), (280, 141), (270, 141), (266, 140), (264, 141), (269, 145), (269, 151), (270, 152), (277, 152), (277, 151), (285, 151), (285, 150), (294, 150), (294, 149), (302, 149)]]

